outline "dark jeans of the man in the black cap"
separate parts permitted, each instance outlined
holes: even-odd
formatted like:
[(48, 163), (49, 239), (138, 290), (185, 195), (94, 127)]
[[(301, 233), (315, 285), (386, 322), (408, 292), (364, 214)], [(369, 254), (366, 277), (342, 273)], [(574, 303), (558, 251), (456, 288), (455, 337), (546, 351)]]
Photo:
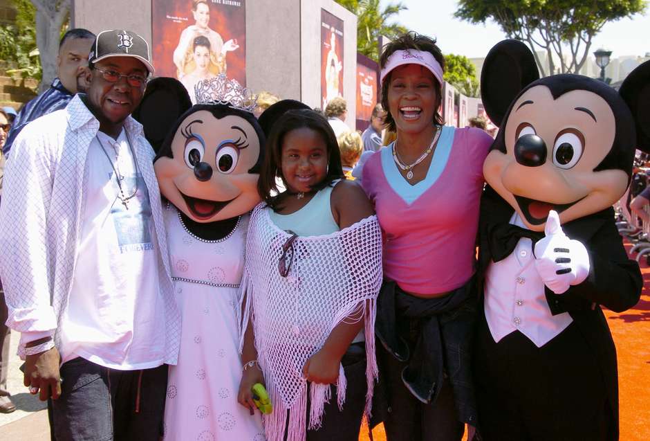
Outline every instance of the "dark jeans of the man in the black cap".
[(114, 370), (81, 357), (61, 366), (53, 401), (57, 441), (158, 441), (163, 434), (167, 365)]

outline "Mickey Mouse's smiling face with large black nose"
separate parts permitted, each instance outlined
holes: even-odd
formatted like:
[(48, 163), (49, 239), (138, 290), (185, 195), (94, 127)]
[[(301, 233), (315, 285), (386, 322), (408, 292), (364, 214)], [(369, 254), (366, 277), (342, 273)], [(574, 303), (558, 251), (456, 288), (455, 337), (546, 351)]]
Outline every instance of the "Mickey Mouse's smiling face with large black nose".
[(532, 87), (502, 127), (507, 152), (493, 150), (483, 163), (485, 181), (534, 231), (544, 231), (550, 210), (562, 224), (597, 213), (628, 184), (623, 170), (594, 171), (611, 150), (615, 127), (611, 107), (595, 93), (574, 90), (554, 100), (548, 87)]

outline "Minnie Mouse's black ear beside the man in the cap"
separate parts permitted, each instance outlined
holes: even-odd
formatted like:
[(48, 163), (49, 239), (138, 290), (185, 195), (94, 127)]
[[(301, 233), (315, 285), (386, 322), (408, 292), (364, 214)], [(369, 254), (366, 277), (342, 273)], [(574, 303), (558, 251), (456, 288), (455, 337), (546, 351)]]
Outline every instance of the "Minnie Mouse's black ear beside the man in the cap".
[(158, 153), (165, 136), (174, 127), (178, 117), (192, 107), (185, 86), (175, 78), (158, 77), (147, 83), (140, 105), (133, 118), (142, 124), (145, 138)]

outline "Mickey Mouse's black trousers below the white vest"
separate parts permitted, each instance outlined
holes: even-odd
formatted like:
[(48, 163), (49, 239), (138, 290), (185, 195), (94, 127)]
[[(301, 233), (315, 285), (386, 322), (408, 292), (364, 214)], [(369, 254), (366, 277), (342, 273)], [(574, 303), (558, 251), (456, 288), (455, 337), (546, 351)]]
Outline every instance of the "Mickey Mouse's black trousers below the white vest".
[(606, 389), (575, 323), (541, 348), (519, 331), (494, 343), (485, 316), (479, 323), (474, 376), (484, 441), (606, 439)]

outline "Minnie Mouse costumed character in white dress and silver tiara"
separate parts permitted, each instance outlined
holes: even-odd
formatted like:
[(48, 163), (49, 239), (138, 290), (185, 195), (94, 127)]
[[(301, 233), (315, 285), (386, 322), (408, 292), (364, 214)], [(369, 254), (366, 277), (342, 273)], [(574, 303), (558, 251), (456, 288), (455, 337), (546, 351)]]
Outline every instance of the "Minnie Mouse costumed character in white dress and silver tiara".
[[(225, 75), (204, 85), (208, 96), (245, 93)], [(161, 100), (176, 96), (166, 89), (152, 98), (161, 112), (169, 108)], [(260, 200), (265, 136), (252, 107), (236, 105), (235, 98), (245, 103), (242, 97), (214, 98), (218, 103), (194, 105), (176, 120), (154, 159), (168, 201), (163, 214), (182, 312), (178, 364), (169, 369), (166, 440), (264, 437), (259, 413), (249, 415), (236, 394), (242, 370), (239, 283), (249, 212)], [(156, 118), (149, 114), (145, 120)]]

